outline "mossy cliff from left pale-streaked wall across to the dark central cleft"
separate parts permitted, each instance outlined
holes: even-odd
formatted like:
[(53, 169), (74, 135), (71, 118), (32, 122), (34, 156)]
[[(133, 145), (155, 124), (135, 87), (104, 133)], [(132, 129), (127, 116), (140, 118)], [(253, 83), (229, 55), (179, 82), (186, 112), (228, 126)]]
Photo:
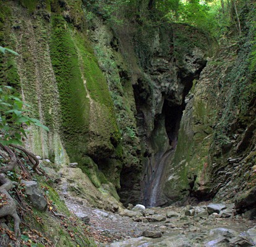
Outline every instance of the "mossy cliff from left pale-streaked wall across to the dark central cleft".
[(178, 24), (126, 23), (124, 35), (95, 17), (87, 30), (82, 1), (21, 3), (5, 4), (20, 92), (51, 130), (33, 127), (28, 145), (59, 164), (78, 162), (124, 203), (150, 204), (151, 190), (163, 188), (184, 96), (214, 42)]

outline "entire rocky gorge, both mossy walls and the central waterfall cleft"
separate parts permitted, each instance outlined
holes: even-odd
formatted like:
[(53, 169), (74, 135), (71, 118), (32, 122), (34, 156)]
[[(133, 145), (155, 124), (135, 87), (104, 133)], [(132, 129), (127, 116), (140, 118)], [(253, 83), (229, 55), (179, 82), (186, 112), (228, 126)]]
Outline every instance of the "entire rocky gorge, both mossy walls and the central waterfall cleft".
[(115, 2), (0, 1), (0, 45), (19, 54), (1, 54), (1, 86), (49, 128), (23, 125), (54, 177), (42, 188), (111, 212), (211, 200), (254, 214), (255, 2), (219, 40), (155, 1)]

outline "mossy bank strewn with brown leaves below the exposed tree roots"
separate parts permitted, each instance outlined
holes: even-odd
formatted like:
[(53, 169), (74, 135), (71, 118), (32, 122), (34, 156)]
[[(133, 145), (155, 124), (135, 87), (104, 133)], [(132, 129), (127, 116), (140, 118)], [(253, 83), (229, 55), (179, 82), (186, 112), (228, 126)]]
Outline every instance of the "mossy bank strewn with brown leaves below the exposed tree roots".
[[(64, 201), (59, 198), (58, 193), (44, 178), (40, 176), (37, 176), (37, 178), (40, 186), (43, 186), (46, 198), (48, 202), (51, 203), (53, 210), (67, 218), (56, 217), (48, 210), (41, 212), (33, 208), (31, 213), (25, 214), (24, 216), (24, 220), (27, 224), (22, 228), (23, 231), (25, 230), (23, 234), (27, 235), (26, 232), (35, 229), (36, 232), (34, 233), (38, 235), (36, 246), (44, 246), (40, 243), (41, 240), (43, 240), (43, 243), (45, 243), (46, 240), (51, 241), (54, 246), (58, 247), (73, 247), (78, 245), (95, 246), (93, 241), (86, 237), (87, 230), (83, 222), (80, 219), (75, 219), (75, 224), (72, 223), (74, 215), (70, 214)], [(71, 217), (70, 220), (69, 217)], [(26, 229), (27, 225), (29, 225), (28, 229)], [(74, 234), (74, 237), (72, 237), (70, 233)], [(83, 234), (81, 235), (81, 233)]]

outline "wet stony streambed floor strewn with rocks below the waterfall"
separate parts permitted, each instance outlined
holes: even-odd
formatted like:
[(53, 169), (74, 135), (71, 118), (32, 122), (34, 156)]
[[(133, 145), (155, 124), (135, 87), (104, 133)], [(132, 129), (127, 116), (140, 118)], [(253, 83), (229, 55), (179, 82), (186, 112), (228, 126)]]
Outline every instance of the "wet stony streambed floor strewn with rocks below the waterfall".
[[(72, 198), (65, 200), (70, 211), (90, 218), (87, 225), (91, 237), (98, 240), (97, 246), (228, 247), (256, 244), (256, 220), (234, 216), (233, 204), (153, 207), (140, 211), (130, 207), (130, 210), (119, 208), (113, 213), (93, 209)], [(224, 214), (227, 209), (231, 214), (229, 217)]]

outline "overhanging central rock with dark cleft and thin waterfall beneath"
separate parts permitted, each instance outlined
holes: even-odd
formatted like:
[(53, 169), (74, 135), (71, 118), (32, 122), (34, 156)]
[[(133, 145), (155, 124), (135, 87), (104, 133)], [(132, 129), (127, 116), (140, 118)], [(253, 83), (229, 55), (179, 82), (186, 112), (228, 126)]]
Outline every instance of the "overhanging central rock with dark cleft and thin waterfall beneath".
[(202, 31), (182, 24), (143, 27), (135, 33), (134, 43), (143, 71), (134, 83), (145, 152), (143, 198), (145, 204), (155, 206), (168, 203), (163, 188), (179, 140), (185, 97), (217, 44)]

